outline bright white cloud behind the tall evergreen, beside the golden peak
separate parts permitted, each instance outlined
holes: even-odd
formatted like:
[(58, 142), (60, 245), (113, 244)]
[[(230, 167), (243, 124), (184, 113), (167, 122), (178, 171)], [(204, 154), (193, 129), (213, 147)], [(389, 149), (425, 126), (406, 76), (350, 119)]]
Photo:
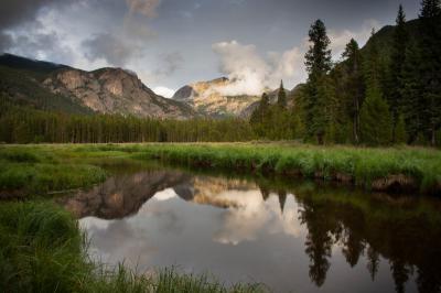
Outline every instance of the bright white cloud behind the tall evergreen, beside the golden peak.
[[(363, 46), (370, 36), (373, 28), (379, 28), (376, 20), (367, 20), (359, 30), (329, 30), (333, 58), (341, 57), (346, 44), (355, 39)], [(280, 79), (290, 88), (306, 79), (304, 54), (308, 50), (308, 39), (284, 52), (267, 52), (265, 56), (258, 53), (252, 44), (241, 44), (238, 41), (220, 42), (212, 45), (219, 58), (219, 72), (228, 76), (232, 84), (213, 87), (212, 90), (225, 96), (261, 95), (266, 88), (275, 89)]]

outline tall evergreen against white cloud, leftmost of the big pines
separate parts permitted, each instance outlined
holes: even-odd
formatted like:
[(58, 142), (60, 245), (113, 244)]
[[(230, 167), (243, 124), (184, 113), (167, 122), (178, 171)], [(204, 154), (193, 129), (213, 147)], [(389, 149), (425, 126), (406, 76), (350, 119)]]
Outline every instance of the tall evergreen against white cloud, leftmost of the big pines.
[(311, 43), (305, 55), (308, 70), (308, 90), (305, 95), (306, 132), (310, 138), (315, 137), (316, 142), (324, 142), (326, 129), (326, 74), (331, 69), (331, 41), (326, 28), (321, 20), (316, 20), (309, 31)]

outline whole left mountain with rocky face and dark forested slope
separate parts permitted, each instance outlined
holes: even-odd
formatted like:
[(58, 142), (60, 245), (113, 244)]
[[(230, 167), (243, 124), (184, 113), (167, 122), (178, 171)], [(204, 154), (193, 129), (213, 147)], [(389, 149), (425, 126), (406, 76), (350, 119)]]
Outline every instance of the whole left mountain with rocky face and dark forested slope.
[(18, 104), (74, 113), (120, 113), (185, 119), (184, 102), (166, 99), (121, 68), (85, 72), (11, 54), (0, 56), (0, 94)]

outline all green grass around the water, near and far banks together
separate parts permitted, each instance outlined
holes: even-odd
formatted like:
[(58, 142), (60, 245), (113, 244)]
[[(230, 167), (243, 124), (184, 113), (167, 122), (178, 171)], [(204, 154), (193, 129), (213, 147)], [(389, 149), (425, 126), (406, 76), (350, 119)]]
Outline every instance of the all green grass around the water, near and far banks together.
[[(118, 172), (112, 162), (119, 165), (138, 160), (142, 164), (152, 159), (260, 178), (271, 175), (284, 180), (302, 176), (325, 182), (344, 181), (367, 189), (376, 181), (402, 175), (421, 193), (440, 195), (441, 189), (441, 152), (432, 149), (260, 143), (2, 145), (0, 198), (17, 194), (32, 200), (0, 204), (0, 287), (7, 292), (266, 291), (254, 284), (226, 286), (214, 278), (174, 269), (140, 274), (122, 264), (107, 268), (94, 263), (87, 257), (85, 237), (72, 216), (49, 200), (35, 199), (57, 191), (99, 183), (109, 172)], [(314, 192), (304, 194), (314, 200), (327, 200), (326, 196), (320, 197)], [(338, 200), (363, 210), (368, 210), (370, 205), (347, 195)], [(431, 209), (421, 205), (419, 213), (427, 215), (428, 210)], [(375, 217), (390, 213), (389, 208), (378, 206)], [(404, 216), (401, 214), (397, 211), (397, 217)], [(432, 221), (439, 223), (439, 218)]]

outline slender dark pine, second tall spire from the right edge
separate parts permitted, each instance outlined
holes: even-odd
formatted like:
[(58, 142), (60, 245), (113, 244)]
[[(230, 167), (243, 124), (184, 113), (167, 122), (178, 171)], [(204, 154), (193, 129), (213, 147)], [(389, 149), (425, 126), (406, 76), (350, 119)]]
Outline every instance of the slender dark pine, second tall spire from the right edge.
[(402, 108), (402, 65), (406, 59), (408, 33), (406, 31), (406, 15), (402, 6), (399, 6), (394, 30), (390, 64), (388, 68), (387, 100), (392, 117), (392, 142), (396, 141), (396, 128)]

